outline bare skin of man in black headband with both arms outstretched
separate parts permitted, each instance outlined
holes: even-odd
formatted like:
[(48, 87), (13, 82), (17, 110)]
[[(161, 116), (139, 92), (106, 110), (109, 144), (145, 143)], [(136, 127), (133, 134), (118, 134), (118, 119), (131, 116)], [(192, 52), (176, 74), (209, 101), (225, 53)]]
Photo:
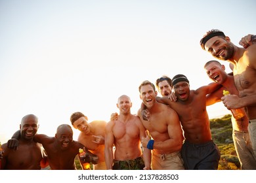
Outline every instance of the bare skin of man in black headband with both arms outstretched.
[(206, 95), (217, 88), (219, 88), (217, 84), (209, 84), (197, 90), (190, 90), (188, 82), (181, 81), (173, 86), (177, 101), (171, 101), (168, 97), (159, 99), (161, 103), (169, 105), (179, 114), (186, 141), (193, 144), (211, 141)]

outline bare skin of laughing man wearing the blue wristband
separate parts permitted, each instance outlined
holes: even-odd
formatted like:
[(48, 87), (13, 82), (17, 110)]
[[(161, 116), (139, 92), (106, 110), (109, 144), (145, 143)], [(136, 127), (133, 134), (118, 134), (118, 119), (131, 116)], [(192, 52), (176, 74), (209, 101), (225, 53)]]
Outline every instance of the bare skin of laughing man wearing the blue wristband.
[[(170, 154), (181, 150), (183, 135), (179, 116), (172, 108), (156, 101), (157, 92), (150, 84), (140, 88), (140, 99), (150, 112), (150, 120), (142, 119), (140, 110), (138, 114), (142, 124), (154, 139), (156, 154)], [(143, 142), (146, 147), (149, 139)]]

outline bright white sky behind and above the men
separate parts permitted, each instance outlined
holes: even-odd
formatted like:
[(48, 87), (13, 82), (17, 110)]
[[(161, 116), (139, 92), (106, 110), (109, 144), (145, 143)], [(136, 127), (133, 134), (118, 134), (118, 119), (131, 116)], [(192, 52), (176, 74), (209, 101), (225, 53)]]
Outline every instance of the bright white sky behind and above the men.
[[(0, 0), (0, 142), (26, 114), (49, 136), (76, 111), (108, 121), (123, 94), (135, 114), (143, 80), (184, 74), (191, 89), (209, 84), (203, 65), (214, 58), (200, 39), (221, 29), (238, 45), (255, 34), (255, 8), (256, 1)], [(210, 118), (229, 113), (223, 103), (207, 110)]]

